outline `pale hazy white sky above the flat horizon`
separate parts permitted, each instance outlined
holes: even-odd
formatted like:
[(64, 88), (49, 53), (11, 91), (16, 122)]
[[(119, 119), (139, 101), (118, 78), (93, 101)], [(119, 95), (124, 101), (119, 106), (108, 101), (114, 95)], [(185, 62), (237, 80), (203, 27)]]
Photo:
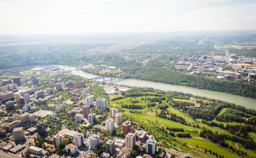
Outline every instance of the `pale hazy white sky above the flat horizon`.
[(255, 29), (255, 0), (0, 0), (0, 34)]

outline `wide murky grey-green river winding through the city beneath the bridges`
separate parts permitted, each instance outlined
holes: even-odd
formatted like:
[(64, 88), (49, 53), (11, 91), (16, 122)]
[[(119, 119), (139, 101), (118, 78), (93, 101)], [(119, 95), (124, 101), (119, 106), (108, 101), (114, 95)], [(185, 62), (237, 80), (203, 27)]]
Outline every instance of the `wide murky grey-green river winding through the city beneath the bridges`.
[[(57, 66), (64, 70), (74, 70), (75, 69), (75, 67), (66, 66), (66, 65), (52, 65), (52, 66)], [(81, 70), (78, 70), (78, 71), (74, 70), (74, 71), (72, 71), (72, 74), (80, 75), (85, 78), (99, 77), (99, 75), (90, 74), (90, 73), (87, 73), (87, 72), (84, 72)], [(110, 79), (110, 78), (105, 78), (105, 81), (108, 79)], [(102, 79), (97, 80), (97, 81), (102, 81)], [(108, 83), (109, 82), (110, 81), (108, 81)], [(236, 95), (217, 92), (217, 91), (208, 91), (208, 90), (202, 90), (202, 89), (191, 88), (191, 87), (186, 87), (186, 86), (144, 81), (144, 80), (138, 80), (138, 79), (120, 79), (120, 80), (114, 80), (113, 83), (124, 84), (124, 85), (129, 85), (129, 86), (137, 86), (137, 87), (152, 87), (154, 89), (160, 89), (163, 91), (168, 91), (168, 90), (180, 91), (180, 92), (184, 92), (184, 93), (190, 93), (193, 95), (204, 96), (207, 98), (219, 99), (219, 100), (227, 101), (230, 103), (235, 103), (236, 105), (242, 105), (246, 108), (256, 109), (256, 99), (246, 98), (246, 97), (242, 97), (242, 96), (236, 96)]]

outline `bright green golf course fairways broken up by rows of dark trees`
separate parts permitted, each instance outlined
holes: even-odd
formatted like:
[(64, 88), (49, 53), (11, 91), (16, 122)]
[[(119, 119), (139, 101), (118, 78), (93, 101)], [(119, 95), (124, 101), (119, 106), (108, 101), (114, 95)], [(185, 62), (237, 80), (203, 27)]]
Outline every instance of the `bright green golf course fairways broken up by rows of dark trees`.
[[(120, 97), (120, 95), (115, 96), (115, 98), (116, 97)], [(154, 96), (151, 96), (151, 98), (152, 97), (154, 97)], [(121, 102), (122, 102), (122, 104), (133, 104), (133, 103), (131, 103), (132, 100), (141, 101), (141, 103), (136, 103), (137, 105), (146, 105), (147, 102), (148, 102), (148, 101), (145, 101), (145, 100), (141, 100), (141, 97), (136, 97), (136, 98), (127, 97), (127, 98), (124, 98), (124, 99), (111, 101), (111, 104), (116, 106), (116, 107), (121, 107)], [(199, 103), (196, 103), (196, 102), (191, 101), (191, 100), (186, 100), (186, 99), (174, 99), (174, 100), (193, 102), (193, 103), (195, 103), (195, 106), (200, 105)], [(156, 103), (158, 104), (158, 102), (156, 102)], [(150, 110), (150, 108), (152, 108), (152, 111)], [(219, 146), (218, 144), (212, 143), (208, 139), (204, 139), (204, 138), (199, 137), (199, 133), (202, 130), (202, 127), (210, 129), (213, 132), (218, 131), (219, 133), (225, 133), (225, 134), (233, 135), (232, 133), (228, 132), (227, 130), (220, 129), (219, 127), (211, 127), (211, 126), (201, 124), (201, 121), (202, 121), (201, 119), (193, 120), (190, 116), (188, 116), (188, 114), (185, 114), (182, 111), (177, 110), (175, 108), (168, 107), (166, 109), (169, 112), (172, 112), (173, 114), (176, 114), (177, 116), (183, 117), (185, 119), (185, 121), (190, 123), (191, 125), (197, 125), (198, 124), (199, 128), (195, 128), (193, 126), (187, 126), (187, 125), (181, 124), (179, 122), (174, 122), (174, 121), (170, 121), (170, 120), (167, 120), (167, 119), (164, 119), (164, 118), (157, 117), (156, 112), (157, 113), (160, 112), (160, 109), (157, 110), (157, 105), (155, 107), (150, 107), (150, 108), (145, 107), (144, 109), (136, 110), (136, 112), (138, 111), (139, 114), (129, 113), (129, 110), (131, 110), (131, 109), (125, 108), (124, 113), (128, 114), (128, 115), (132, 115), (133, 117), (138, 118), (138, 119), (140, 119), (141, 121), (144, 121), (144, 122), (151, 122), (151, 123), (152, 122), (154, 122), (154, 123), (157, 122), (157, 125), (164, 126), (164, 128), (166, 128), (167, 126), (168, 127), (174, 127), (174, 128), (183, 128), (185, 132), (197, 130), (198, 131), (197, 133), (190, 132), (190, 135), (191, 135), (192, 138), (178, 138), (178, 137), (175, 137), (175, 139), (177, 139), (178, 141), (180, 141), (182, 143), (187, 143), (187, 145), (190, 147), (190, 149), (187, 149), (186, 147), (180, 147), (179, 146), (179, 148), (181, 149), (182, 152), (188, 152), (188, 153), (190, 153), (190, 154), (192, 154), (196, 157), (210, 157), (210, 158), (215, 157), (215, 155), (211, 155), (210, 153), (205, 155), (204, 149), (207, 148), (207, 150), (212, 150), (212, 152), (217, 152), (218, 154), (224, 155), (225, 157), (229, 157), (229, 158), (230, 157), (234, 157), (234, 158), (242, 157), (241, 155), (238, 156), (237, 153), (232, 153), (232, 150), (231, 150), (231, 152), (229, 152), (229, 149), (223, 148), (223, 147)], [(223, 108), (218, 115), (223, 114), (227, 109), (228, 108)], [(140, 114), (140, 111), (142, 112), (142, 114)], [(215, 121), (215, 122), (223, 123), (224, 125), (226, 125), (228, 123), (233, 124), (233, 125), (240, 124), (240, 123), (237, 123), (237, 122), (219, 122), (219, 121)], [(179, 132), (174, 132), (175, 135), (177, 133), (179, 133)], [(250, 133), (250, 135), (252, 136), (252, 139), (254, 139), (254, 140), (256, 139), (256, 134), (255, 133)], [(234, 142), (231, 143), (228, 140), (227, 140), (227, 142), (228, 142), (228, 144), (232, 144), (233, 147), (236, 147)], [(198, 148), (196, 148), (196, 145), (198, 146)], [(244, 149), (244, 147), (241, 146), (241, 145), (240, 146), (238, 145), (238, 147), (236, 147), (236, 148), (238, 148), (240, 150), (243, 150), (244, 152), (246, 151), (247, 154), (249, 155), (248, 157), (251, 157), (253, 154), (255, 154), (255, 152), (253, 152), (251, 150)]]

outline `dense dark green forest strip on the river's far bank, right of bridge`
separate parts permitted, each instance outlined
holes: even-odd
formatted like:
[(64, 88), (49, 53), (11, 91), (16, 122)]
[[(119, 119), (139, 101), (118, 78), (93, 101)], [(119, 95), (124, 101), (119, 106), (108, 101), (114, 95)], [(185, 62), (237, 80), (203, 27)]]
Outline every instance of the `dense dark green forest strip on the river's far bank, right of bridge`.
[(153, 82), (184, 85), (209, 91), (219, 91), (256, 99), (255, 85), (220, 81), (203, 76), (187, 75), (185, 73), (175, 71), (174, 69), (156, 66), (142, 67), (137, 70), (136, 73), (137, 74), (131, 75), (130, 77)]

